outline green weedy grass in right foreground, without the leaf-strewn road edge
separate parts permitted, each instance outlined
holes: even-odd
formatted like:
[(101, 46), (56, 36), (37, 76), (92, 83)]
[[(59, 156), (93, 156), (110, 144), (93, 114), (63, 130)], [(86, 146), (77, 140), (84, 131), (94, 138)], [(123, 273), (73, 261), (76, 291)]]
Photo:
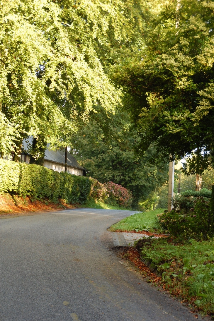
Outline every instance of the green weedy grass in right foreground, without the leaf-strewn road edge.
[[(172, 240), (172, 239), (171, 239)], [(214, 314), (214, 239), (183, 244), (168, 238), (140, 241), (141, 259), (162, 275), (166, 288)]]

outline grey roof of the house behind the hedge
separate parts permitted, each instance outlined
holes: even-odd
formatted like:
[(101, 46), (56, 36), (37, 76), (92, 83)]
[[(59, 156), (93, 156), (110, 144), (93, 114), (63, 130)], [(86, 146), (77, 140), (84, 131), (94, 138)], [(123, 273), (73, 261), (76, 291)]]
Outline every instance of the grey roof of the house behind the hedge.
[[(33, 137), (30, 136), (27, 139), (24, 139), (22, 142), (22, 149), (24, 152), (27, 152), (29, 154), (29, 147), (32, 145)], [(47, 144), (47, 147), (49, 147), (49, 144)], [(45, 160), (50, 160), (56, 163), (65, 164), (65, 151), (49, 151), (48, 148), (45, 151)], [(79, 169), (84, 169), (82, 166), (79, 165), (78, 161), (74, 158), (73, 155), (70, 154), (70, 152), (67, 152), (67, 165), (76, 167)]]

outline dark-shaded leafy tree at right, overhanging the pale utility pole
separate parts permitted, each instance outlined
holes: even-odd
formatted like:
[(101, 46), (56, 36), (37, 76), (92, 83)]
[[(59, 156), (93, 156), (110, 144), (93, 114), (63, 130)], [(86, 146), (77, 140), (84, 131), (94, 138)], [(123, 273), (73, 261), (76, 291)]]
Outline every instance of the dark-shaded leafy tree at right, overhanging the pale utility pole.
[(140, 133), (163, 157), (192, 155), (186, 173), (201, 173), (214, 149), (213, 2), (160, 2), (150, 10), (144, 45), (111, 68), (126, 92)]

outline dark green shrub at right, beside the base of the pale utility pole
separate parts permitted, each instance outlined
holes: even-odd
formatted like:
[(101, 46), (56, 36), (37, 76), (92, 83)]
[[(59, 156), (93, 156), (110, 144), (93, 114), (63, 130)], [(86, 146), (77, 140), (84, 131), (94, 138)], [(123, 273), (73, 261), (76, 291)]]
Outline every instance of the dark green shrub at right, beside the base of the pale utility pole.
[(170, 234), (187, 238), (205, 238), (214, 235), (212, 192), (188, 190), (173, 198), (171, 212), (158, 215), (161, 228)]

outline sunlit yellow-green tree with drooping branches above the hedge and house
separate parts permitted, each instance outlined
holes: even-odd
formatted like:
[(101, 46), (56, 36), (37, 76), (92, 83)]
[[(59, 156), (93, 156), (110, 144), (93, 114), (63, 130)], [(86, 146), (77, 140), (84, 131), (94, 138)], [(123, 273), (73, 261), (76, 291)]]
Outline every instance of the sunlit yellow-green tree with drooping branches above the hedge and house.
[[(46, 143), (66, 146), (90, 113), (99, 107), (112, 111), (120, 103), (97, 50), (130, 38), (131, 11), (123, 1), (1, 2), (0, 111), (7, 134), (13, 130), (14, 160), (29, 134), (38, 159)], [(8, 152), (5, 142), (0, 149)]]

